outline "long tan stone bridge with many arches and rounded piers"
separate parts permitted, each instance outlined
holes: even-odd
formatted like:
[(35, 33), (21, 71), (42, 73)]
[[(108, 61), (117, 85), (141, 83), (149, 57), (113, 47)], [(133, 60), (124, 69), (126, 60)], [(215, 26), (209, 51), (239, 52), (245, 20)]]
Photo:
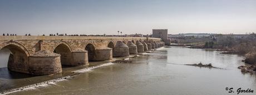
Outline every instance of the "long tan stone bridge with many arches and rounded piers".
[(109, 36), (0, 36), (11, 51), (8, 69), (32, 75), (62, 72), (62, 65), (88, 65), (164, 46), (159, 38)]

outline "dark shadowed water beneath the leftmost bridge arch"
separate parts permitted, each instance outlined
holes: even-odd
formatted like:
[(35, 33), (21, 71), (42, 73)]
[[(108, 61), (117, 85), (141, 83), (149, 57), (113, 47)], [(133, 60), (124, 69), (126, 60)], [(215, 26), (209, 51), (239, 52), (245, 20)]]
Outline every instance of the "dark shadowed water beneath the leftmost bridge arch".
[(26, 74), (26, 73), (10, 71), (10, 70), (8, 70), (7, 67), (0, 68), (0, 78), (4, 78), (4, 79), (20, 79), (20, 78), (29, 78), (29, 77), (34, 77), (34, 76)]

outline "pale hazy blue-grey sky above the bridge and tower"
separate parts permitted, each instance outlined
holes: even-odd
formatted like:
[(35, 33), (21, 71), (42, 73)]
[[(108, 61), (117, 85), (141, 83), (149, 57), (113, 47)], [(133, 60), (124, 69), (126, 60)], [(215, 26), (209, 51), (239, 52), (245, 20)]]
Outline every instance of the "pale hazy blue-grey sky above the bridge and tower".
[(256, 0), (0, 0), (0, 33), (256, 32)]

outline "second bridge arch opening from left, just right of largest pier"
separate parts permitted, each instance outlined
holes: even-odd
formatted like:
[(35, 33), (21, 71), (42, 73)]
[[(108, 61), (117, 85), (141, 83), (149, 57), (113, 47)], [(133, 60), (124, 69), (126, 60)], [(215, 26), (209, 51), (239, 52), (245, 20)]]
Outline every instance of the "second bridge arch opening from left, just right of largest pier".
[(61, 55), (61, 65), (72, 65), (72, 54), (68, 45), (63, 43), (58, 44), (53, 50), (53, 52)]

